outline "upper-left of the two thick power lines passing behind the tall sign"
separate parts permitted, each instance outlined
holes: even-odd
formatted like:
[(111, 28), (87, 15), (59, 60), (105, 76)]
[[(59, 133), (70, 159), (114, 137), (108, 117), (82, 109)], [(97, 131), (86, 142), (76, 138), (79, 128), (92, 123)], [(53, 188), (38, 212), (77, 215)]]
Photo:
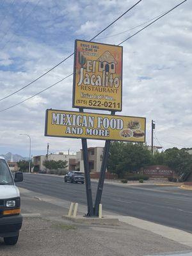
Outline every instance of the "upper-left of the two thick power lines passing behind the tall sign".
[[(92, 39), (90, 39), (90, 42), (97, 37), (98, 35), (100, 35), (103, 31), (105, 31), (106, 29), (108, 29), (110, 26), (112, 26), (118, 19), (120, 19), (121, 17), (123, 17), (127, 12), (129, 12), (132, 8), (134, 8), (134, 6), (136, 6), (137, 4), (139, 4), (142, 0), (138, 1), (136, 4), (134, 4), (133, 6), (131, 6), (131, 8), (129, 8), (126, 12), (124, 12), (122, 15), (120, 15), (120, 17), (118, 17), (116, 20), (114, 20), (113, 22), (111, 22), (111, 24), (109, 24), (106, 28), (102, 29), (102, 31), (100, 31), (96, 36), (94, 36)], [(7, 99), (8, 97), (11, 97), (12, 95), (14, 95), (17, 92), (20, 92), (21, 90), (23, 90), (24, 88), (28, 87), (29, 85), (35, 83), (36, 81), (38, 81), (41, 77), (45, 76), (46, 74), (48, 74), (49, 72), (51, 72), (54, 68), (58, 67), (59, 65), (61, 65), (61, 63), (63, 63), (64, 61), (68, 60), (68, 58), (70, 58), (71, 56), (74, 55), (74, 52), (72, 54), (70, 54), (67, 58), (65, 58), (64, 60), (62, 60), (60, 63), (56, 64), (54, 67), (52, 67), (51, 69), (47, 70), (47, 72), (45, 72), (44, 74), (42, 74), (41, 76), (37, 77), (35, 80), (31, 81), (31, 83), (26, 84), (25, 86), (23, 86), (22, 88), (20, 88), (19, 90), (10, 93), (9, 95), (6, 95), (5, 97), (1, 98), (1, 100)]]

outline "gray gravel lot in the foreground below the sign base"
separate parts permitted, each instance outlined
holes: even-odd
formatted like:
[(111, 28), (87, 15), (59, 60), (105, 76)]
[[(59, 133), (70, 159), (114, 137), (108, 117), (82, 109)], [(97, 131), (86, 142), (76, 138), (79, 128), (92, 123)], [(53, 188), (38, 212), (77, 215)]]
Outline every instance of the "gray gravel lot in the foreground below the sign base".
[(139, 256), (189, 249), (124, 223), (111, 227), (24, 219), (15, 246), (6, 246), (0, 239), (1, 256)]

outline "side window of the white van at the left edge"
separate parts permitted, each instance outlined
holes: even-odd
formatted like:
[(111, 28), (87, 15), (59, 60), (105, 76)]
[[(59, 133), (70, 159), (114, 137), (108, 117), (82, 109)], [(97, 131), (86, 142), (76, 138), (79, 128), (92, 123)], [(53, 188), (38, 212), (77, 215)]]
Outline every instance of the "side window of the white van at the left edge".
[(13, 185), (13, 178), (4, 159), (0, 159), (0, 185)]

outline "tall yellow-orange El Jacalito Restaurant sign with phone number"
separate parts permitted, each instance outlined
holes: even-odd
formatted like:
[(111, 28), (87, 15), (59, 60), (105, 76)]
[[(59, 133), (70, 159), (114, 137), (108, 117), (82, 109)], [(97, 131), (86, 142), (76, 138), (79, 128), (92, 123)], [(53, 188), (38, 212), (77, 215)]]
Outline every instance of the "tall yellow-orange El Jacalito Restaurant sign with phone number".
[(73, 108), (122, 111), (122, 46), (76, 40)]

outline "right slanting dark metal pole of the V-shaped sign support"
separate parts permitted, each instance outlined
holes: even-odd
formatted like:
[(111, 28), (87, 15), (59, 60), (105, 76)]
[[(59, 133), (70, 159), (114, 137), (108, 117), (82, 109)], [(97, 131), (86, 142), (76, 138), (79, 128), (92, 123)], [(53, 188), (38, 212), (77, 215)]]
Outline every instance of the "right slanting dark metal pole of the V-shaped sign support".
[[(115, 115), (115, 111), (111, 111), (111, 115)], [(104, 179), (106, 176), (106, 168), (108, 164), (108, 157), (109, 157), (109, 147), (110, 147), (111, 140), (106, 140), (104, 152), (103, 152), (103, 158), (102, 158), (102, 164), (100, 167), (100, 177), (99, 177), (99, 183), (97, 186), (97, 195), (95, 198), (95, 207), (94, 207), (94, 215), (99, 216), (99, 204), (102, 197), (102, 189), (104, 185)]]

